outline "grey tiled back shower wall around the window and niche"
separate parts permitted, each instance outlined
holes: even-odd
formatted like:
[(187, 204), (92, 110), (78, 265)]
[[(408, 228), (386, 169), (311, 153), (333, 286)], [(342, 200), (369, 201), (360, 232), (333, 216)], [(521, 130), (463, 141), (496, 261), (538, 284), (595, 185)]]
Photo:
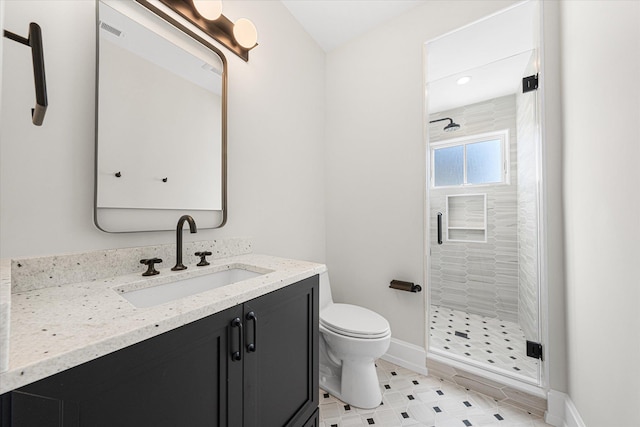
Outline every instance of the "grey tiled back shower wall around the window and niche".
[[(487, 195), (487, 242), (447, 242), (430, 238), (431, 304), (518, 322), (517, 131), (516, 99), (508, 95), (442, 113), (461, 125), (445, 133), (442, 123), (429, 126), (431, 142), (509, 129), (511, 182), (469, 188), (429, 188), (430, 236), (436, 236), (436, 214), (446, 212), (446, 196)], [(443, 218), (443, 227), (446, 219)], [(444, 233), (443, 233), (444, 234)]]

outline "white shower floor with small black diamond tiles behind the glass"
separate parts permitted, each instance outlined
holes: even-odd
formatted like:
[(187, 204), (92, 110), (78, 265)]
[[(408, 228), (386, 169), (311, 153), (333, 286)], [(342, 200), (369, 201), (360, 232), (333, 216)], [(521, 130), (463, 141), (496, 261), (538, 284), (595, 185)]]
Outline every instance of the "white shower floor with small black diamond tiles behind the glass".
[(431, 306), (431, 345), (454, 355), (538, 378), (538, 360), (527, 357), (526, 338), (517, 323), (446, 307)]

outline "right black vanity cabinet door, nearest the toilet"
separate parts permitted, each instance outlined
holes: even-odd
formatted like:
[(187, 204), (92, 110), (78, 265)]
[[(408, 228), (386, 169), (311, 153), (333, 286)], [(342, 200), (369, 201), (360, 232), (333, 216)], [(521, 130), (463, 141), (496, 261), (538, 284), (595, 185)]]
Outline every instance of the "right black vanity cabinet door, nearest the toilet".
[(318, 276), (246, 302), (244, 322), (245, 427), (306, 425), (318, 408)]

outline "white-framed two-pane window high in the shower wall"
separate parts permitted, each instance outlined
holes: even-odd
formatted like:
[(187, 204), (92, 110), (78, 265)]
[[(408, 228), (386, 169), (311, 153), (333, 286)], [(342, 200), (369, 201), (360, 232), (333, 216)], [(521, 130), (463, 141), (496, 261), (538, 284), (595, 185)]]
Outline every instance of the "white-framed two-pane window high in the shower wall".
[(508, 147), (508, 130), (433, 143), (432, 186), (508, 184)]

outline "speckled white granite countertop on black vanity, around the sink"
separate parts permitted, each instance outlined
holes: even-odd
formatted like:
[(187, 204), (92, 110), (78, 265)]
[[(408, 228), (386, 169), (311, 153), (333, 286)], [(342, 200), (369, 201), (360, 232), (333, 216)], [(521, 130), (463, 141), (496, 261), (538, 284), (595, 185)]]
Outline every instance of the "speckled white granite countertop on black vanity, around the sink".
[[(233, 264), (266, 273), (148, 308), (134, 307), (117, 291), (204, 275)], [(249, 253), (180, 272), (158, 270), (161, 274), (151, 278), (137, 272), (22, 292), (14, 287), (9, 367), (0, 374), (0, 394), (320, 274), (326, 267)], [(11, 287), (4, 264), (0, 279), (0, 285)]]

